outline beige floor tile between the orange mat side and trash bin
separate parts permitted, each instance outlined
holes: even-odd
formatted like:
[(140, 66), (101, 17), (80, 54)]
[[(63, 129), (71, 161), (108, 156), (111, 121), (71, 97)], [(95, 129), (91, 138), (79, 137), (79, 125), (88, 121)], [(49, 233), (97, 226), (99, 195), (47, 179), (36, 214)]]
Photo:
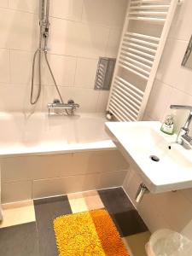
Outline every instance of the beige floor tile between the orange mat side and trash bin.
[(149, 241), (151, 233), (149, 231), (123, 238), (125, 247), (131, 256), (147, 256), (145, 245)]

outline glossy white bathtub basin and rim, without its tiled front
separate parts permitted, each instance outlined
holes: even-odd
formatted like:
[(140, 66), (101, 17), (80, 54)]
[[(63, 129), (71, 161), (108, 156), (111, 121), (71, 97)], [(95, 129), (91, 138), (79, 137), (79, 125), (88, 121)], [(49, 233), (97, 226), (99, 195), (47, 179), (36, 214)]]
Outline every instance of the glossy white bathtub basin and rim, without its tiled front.
[(0, 113), (0, 156), (61, 154), (115, 148), (101, 113), (48, 116), (47, 113)]

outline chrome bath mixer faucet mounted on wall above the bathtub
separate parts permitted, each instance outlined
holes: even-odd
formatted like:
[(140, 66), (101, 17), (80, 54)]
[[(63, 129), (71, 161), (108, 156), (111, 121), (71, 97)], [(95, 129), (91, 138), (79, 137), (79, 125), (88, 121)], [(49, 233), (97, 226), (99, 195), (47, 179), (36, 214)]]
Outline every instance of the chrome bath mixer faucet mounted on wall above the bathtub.
[(48, 113), (51, 114), (51, 110), (65, 110), (67, 114), (73, 115), (74, 110), (78, 109), (79, 104), (73, 102), (73, 100), (68, 100), (67, 103), (61, 103), (60, 100), (55, 99), (53, 103), (47, 104)]

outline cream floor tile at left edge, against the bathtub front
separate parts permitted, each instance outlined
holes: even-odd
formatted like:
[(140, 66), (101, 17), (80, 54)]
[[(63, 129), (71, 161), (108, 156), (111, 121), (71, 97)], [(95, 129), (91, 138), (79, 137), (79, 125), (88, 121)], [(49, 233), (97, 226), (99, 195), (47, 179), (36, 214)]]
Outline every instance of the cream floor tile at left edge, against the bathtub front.
[(33, 201), (20, 201), (4, 204), (3, 221), (0, 223), (0, 229), (34, 221), (35, 211)]

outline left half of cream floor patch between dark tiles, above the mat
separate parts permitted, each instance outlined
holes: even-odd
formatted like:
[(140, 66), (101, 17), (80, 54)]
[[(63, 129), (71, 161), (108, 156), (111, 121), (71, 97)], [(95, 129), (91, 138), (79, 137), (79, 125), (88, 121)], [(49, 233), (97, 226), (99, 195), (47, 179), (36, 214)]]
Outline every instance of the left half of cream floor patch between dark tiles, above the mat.
[(69, 194), (67, 196), (73, 213), (86, 212), (89, 210), (82, 193)]

